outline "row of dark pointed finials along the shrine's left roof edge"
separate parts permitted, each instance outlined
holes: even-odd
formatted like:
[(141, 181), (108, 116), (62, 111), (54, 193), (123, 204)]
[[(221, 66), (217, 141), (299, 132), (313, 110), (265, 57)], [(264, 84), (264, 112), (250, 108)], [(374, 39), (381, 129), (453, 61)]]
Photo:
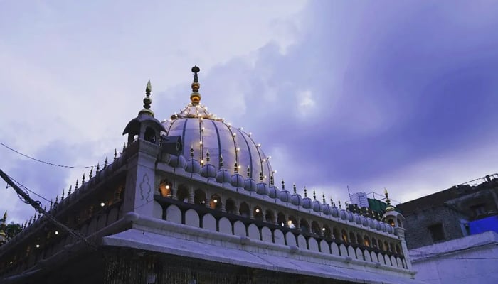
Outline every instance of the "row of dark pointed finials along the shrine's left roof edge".
[[(126, 143), (123, 144), (122, 153), (124, 153), (125, 149), (126, 149)], [(120, 153), (120, 154), (122, 154), (122, 153)], [(117, 155), (118, 155), (118, 152), (117, 152), (117, 149), (115, 149), (113, 162), (115, 162), (117, 160)], [(98, 173), (100, 170), (104, 170), (109, 165), (110, 165), (109, 159), (107, 157), (105, 157), (104, 164), (102, 165), (102, 167), (100, 166), (100, 163), (97, 163), (97, 165), (95, 166), (95, 174)], [(91, 180), (95, 176), (93, 168), (94, 167), (90, 167), (90, 172), (88, 173), (88, 180)], [(67, 194), (65, 192), (65, 189), (63, 189), (63, 191), (60, 195), (60, 202), (62, 202), (64, 199), (67, 199), (73, 192), (75, 192), (80, 187), (82, 187), (85, 184), (85, 182), (86, 182), (86, 175), (85, 175), (85, 173), (83, 173), (83, 176), (81, 177), (81, 185), (80, 185), (80, 180), (76, 179), (74, 190), (73, 190), (73, 185), (69, 186)], [(53, 208), (57, 207), (58, 204), (59, 204), (59, 195), (56, 195), (55, 200), (50, 201), (50, 206), (48, 207), (48, 212), (50, 212)], [(45, 211), (47, 211), (47, 204), (45, 204), (43, 209)], [(35, 214), (32, 217), (30, 217), (26, 222), (21, 224), (21, 229), (26, 229), (26, 227), (28, 227), (29, 225), (34, 223), (36, 220), (40, 219), (41, 215), (42, 214), (40, 212), (35, 212)]]

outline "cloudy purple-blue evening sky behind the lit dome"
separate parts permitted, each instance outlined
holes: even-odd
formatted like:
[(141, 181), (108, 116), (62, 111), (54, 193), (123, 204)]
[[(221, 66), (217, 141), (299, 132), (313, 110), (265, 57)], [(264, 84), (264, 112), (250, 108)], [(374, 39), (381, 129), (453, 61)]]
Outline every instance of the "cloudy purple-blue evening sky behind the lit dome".
[[(179, 3), (0, 0), (0, 142), (102, 163), (147, 80), (167, 119), (198, 65), (203, 104), (300, 189), (404, 202), (498, 172), (496, 1)], [(48, 199), (88, 176), (1, 146), (0, 168)], [(11, 220), (33, 214), (0, 189)]]

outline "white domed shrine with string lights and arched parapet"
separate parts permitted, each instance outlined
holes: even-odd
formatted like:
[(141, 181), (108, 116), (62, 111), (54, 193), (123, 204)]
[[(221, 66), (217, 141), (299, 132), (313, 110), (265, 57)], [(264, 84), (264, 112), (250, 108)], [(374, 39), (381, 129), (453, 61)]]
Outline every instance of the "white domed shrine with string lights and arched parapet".
[(0, 283), (420, 283), (403, 215), (276, 182), (254, 135), (201, 104), (199, 71), (165, 121), (147, 84), (122, 153), (47, 208), (70, 230), (32, 218), (0, 246)]

